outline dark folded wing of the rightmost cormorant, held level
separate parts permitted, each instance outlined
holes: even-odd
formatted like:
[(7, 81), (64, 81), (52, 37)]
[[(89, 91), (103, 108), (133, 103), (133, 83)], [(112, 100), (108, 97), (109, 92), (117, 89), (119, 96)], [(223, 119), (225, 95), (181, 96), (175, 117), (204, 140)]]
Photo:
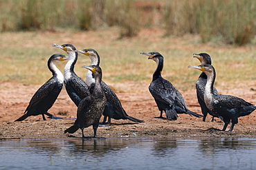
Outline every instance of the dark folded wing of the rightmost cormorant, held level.
[(217, 100), (215, 100), (214, 103), (219, 107), (235, 108), (253, 105), (251, 103), (246, 102), (242, 98), (230, 95), (218, 95), (216, 99)]

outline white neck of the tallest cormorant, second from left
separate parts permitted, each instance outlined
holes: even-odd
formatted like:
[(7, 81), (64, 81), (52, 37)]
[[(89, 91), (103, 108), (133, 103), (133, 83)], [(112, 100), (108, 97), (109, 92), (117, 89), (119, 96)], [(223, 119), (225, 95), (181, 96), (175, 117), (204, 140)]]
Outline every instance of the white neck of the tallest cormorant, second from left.
[(68, 78), (72, 73), (74, 73), (75, 63), (77, 61), (77, 52), (67, 52), (68, 62), (64, 67), (64, 78)]

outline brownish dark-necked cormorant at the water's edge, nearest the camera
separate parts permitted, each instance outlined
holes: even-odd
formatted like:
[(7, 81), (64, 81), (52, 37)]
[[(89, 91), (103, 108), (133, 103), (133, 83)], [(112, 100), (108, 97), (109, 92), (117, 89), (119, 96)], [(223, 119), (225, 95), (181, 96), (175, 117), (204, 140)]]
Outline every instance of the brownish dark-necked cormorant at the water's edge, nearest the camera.
[(107, 102), (104, 92), (100, 87), (102, 71), (98, 65), (83, 65), (82, 67), (93, 72), (93, 76), (95, 77), (95, 83), (93, 83), (93, 92), (91, 95), (82, 99), (77, 107), (77, 119), (75, 120), (74, 125), (66, 129), (64, 133), (68, 132), (73, 134), (80, 128), (82, 130), (82, 138), (85, 138), (84, 128), (93, 125), (93, 138), (96, 138), (100, 117), (102, 116), (104, 106)]

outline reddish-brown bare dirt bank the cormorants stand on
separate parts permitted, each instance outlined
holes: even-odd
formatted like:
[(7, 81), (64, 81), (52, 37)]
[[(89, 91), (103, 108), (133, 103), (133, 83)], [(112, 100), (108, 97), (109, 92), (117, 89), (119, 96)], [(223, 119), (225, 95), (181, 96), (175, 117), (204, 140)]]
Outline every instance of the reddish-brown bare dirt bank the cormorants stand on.
[[(111, 83), (108, 83), (111, 86)], [(130, 116), (145, 120), (145, 123), (133, 123), (130, 120), (112, 120), (109, 127), (99, 127), (98, 136), (104, 138), (122, 137), (256, 137), (255, 111), (249, 116), (239, 118), (235, 125), (235, 131), (231, 133), (217, 131), (222, 129), (223, 123), (218, 118), (210, 122), (208, 116), (206, 122), (201, 118), (191, 117), (185, 114), (179, 115), (178, 120), (170, 121), (159, 118), (160, 112), (156, 107), (151, 94), (148, 92), (148, 82), (138, 83), (115, 83), (123, 107)], [(246, 87), (235, 89), (218, 88), (221, 94), (232, 94), (244, 98), (250, 103), (256, 103), (256, 95), (253, 90), (253, 82)], [(40, 85), (23, 85), (19, 83), (0, 83), (0, 138), (67, 138), (70, 134), (64, 134), (64, 129), (70, 127), (75, 121), (76, 107), (62, 89), (53, 107), (49, 110), (55, 116), (66, 117), (65, 119), (42, 120), (42, 116), (30, 116), (22, 122), (14, 122), (24, 113), (30, 98)], [(181, 92), (190, 110), (201, 114), (201, 109), (196, 100), (196, 91), (191, 89)], [(66, 114), (66, 115), (58, 115)], [(229, 127), (228, 127), (229, 128)], [(87, 136), (93, 135), (92, 127), (85, 129)], [(77, 131), (73, 136), (82, 136)]]

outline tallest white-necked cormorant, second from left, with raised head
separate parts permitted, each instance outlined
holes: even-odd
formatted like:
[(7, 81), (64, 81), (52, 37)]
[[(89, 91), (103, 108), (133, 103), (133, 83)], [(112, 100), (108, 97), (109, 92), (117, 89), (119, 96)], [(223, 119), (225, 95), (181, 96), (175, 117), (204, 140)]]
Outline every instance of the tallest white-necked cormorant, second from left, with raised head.
[(89, 96), (90, 92), (88, 85), (74, 72), (75, 63), (77, 61), (77, 52), (75, 52), (75, 47), (71, 44), (53, 44), (53, 47), (59, 47), (68, 54), (68, 62), (64, 67), (64, 84), (68, 96), (78, 107), (80, 101), (86, 96)]

